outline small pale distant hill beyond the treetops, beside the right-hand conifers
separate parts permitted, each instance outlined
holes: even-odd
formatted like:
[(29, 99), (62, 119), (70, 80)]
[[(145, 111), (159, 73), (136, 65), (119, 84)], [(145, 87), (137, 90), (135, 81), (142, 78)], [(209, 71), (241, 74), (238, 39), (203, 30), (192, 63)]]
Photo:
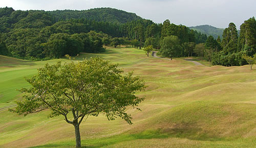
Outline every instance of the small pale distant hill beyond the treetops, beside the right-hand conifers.
[(208, 24), (196, 26), (196, 27), (189, 27), (189, 29), (196, 30), (198, 32), (201, 32), (203, 34), (206, 34), (207, 36), (213, 36), (215, 39), (220, 36), (222, 38), (222, 34), (224, 29), (223, 28), (216, 28), (213, 26), (209, 26)]

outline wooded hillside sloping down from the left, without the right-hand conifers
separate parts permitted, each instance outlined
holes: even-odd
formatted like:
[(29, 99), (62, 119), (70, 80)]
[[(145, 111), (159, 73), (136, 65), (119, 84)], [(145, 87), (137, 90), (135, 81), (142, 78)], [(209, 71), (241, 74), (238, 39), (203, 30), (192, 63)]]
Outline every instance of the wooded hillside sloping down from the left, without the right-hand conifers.
[[(20, 11), (0, 9), (0, 53), (28, 60), (60, 58), (80, 52), (104, 52), (105, 45), (153, 45), (161, 48), (163, 37), (175, 35), (182, 45), (205, 42), (206, 35), (170, 23), (157, 24), (134, 13), (111, 8), (86, 11)], [(186, 55), (185, 48), (175, 57)]]

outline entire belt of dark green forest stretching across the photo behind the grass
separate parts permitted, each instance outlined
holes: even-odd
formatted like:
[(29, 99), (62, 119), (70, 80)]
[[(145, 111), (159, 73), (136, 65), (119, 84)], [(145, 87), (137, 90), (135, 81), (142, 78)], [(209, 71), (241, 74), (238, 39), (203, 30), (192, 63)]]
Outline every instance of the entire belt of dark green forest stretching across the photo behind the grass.
[(233, 23), (222, 38), (207, 36), (169, 20), (155, 23), (134, 13), (112, 9), (20, 11), (0, 8), (0, 54), (47, 60), (80, 52), (104, 52), (103, 45), (152, 47), (165, 57), (203, 57), (216, 65), (243, 65), (255, 54), (254, 17)]

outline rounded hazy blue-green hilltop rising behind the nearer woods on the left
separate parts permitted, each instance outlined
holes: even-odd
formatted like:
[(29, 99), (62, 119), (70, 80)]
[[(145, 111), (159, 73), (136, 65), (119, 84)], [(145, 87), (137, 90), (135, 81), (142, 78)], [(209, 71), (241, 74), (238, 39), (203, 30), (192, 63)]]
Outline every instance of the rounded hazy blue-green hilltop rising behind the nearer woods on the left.
[(111, 23), (126, 23), (132, 20), (142, 19), (135, 13), (125, 12), (123, 10), (117, 10), (113, 8), (94, 8), (89, 10), (56, 10), (48, 12), (55, 16), (56, 21), (83, 18)]

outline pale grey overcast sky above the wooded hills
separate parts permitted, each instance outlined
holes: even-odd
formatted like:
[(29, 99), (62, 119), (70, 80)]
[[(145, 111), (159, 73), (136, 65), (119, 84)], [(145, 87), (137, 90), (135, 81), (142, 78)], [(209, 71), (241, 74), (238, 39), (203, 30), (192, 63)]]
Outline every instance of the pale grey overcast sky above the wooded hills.
[(110, 7), (133, 12), (163, 22), (198, 26), (209, 24), (218, 28), (234, 22), (237, 28), (256, 14), (255, 0), (1, 0), (0, 7), (14, 10), (87, 10)]

